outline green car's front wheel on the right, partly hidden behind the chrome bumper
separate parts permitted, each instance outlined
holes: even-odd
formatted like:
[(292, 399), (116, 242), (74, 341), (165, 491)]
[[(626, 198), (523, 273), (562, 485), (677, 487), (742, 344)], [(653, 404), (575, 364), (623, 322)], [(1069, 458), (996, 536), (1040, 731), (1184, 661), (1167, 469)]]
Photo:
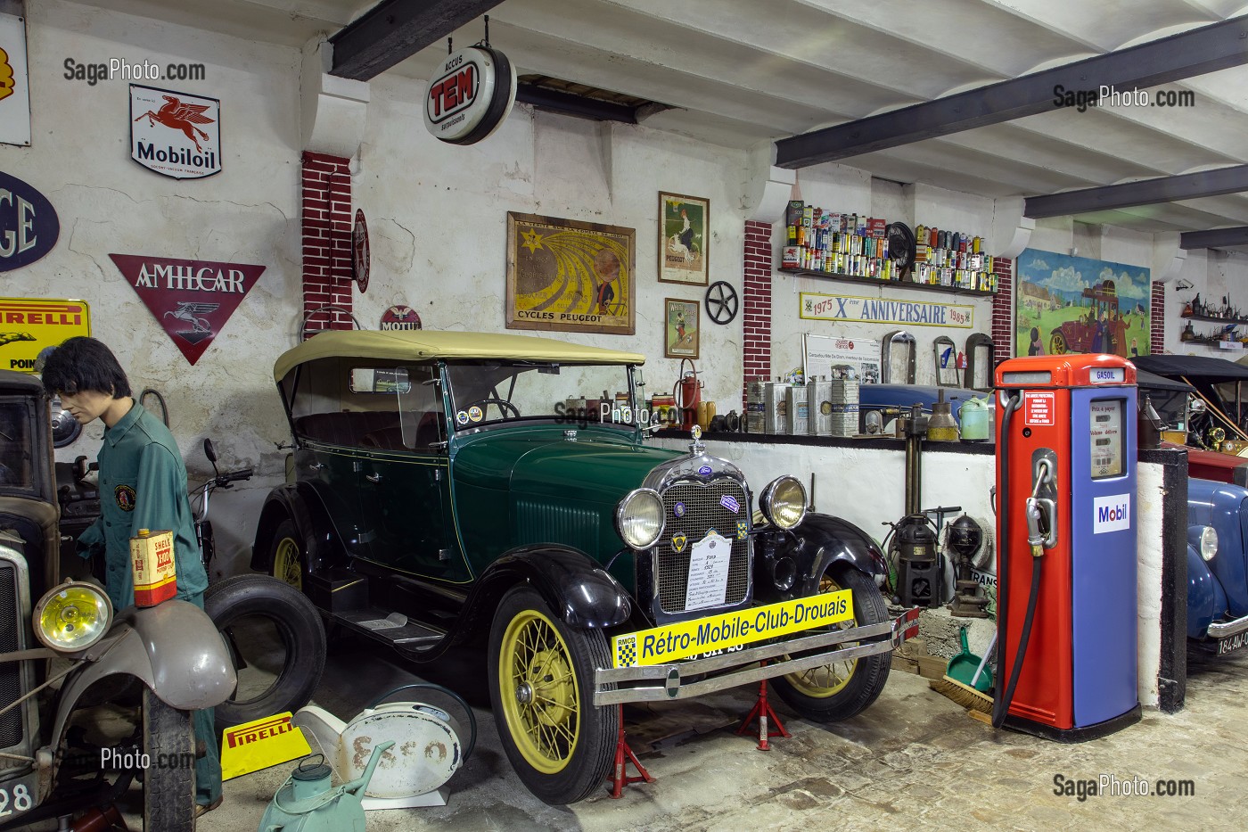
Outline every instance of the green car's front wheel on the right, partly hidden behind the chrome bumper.
[[(854, 620), (840, 625), (855, 627), (886, 621), (889, 608), (875, 582), (847, 566), (829, 570), (819, 585), (820, 592), (851, 590), (854, 592)], [(852, 646), (847, 642), (842, 646)], [(814, 722), (840, 722), (875, 702), (889, 681), (892, 667), (891, 653), (875, 653), (829, 665), (819, 665), (805, 671), (787, 673), (771, 680), (776, 693), (789, 706)]]

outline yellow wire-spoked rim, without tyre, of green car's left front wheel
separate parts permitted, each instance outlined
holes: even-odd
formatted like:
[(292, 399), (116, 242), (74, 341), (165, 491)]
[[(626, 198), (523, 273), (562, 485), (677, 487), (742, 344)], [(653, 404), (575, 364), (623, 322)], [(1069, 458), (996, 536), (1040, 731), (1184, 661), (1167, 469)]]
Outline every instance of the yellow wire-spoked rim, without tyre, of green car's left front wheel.
[(580, 735), (580, 691), (568, 643), (544, 613), (522, 611), (503, 632), (498, 670), (517, 750), (543, 775), (563, 771)]

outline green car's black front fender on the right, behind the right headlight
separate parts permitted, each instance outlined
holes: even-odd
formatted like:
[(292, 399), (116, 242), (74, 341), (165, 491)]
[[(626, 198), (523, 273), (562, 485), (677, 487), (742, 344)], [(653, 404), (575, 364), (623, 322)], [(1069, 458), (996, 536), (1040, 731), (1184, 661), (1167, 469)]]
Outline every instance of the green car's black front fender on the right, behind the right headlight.
[[(831, 515), (811, 512), (787, 532), (765, 530), (760, 535), (755, 562), (756, 595), (761, 600), (782, 601), (819, 592), (824, 573), (835, 565), (862, 572), (876, 585), (887, 577), (884, 552), (864, 530)], [(782, 563), (787, 558), (792, 566)], [(792, 586), (781, 590), (775, 575), (792, 570)], [(782, 582), (781, 582), (782, 583)]]

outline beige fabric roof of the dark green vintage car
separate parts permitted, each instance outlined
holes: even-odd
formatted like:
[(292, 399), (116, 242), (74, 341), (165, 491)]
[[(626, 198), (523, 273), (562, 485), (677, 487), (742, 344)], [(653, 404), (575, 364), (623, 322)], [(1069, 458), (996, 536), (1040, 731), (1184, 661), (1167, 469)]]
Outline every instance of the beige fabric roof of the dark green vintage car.
[(569, 344), (530, 335), (497, 332), (438, 332), (433, 330), (332, 330), (321, 332), (278, 356), (273, 379), (281, 381), (296, 366), (314, 359), (517, 359), (568, 364), (645, 364), (638, 352)]

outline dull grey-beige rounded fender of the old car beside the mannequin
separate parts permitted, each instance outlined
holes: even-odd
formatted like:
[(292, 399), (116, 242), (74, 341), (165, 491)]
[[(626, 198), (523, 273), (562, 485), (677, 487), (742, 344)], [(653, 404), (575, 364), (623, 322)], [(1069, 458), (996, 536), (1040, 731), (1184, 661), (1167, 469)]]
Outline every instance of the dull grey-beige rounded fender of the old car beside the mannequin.
[(200, 711), (225, 702), (238, 683), (216, 625), (188, 601), (124, 610), (105, 640), (82, 653), (56, 698), (52, 747), (89, 687), (106, 676), (134, 676), (170, 707)]

